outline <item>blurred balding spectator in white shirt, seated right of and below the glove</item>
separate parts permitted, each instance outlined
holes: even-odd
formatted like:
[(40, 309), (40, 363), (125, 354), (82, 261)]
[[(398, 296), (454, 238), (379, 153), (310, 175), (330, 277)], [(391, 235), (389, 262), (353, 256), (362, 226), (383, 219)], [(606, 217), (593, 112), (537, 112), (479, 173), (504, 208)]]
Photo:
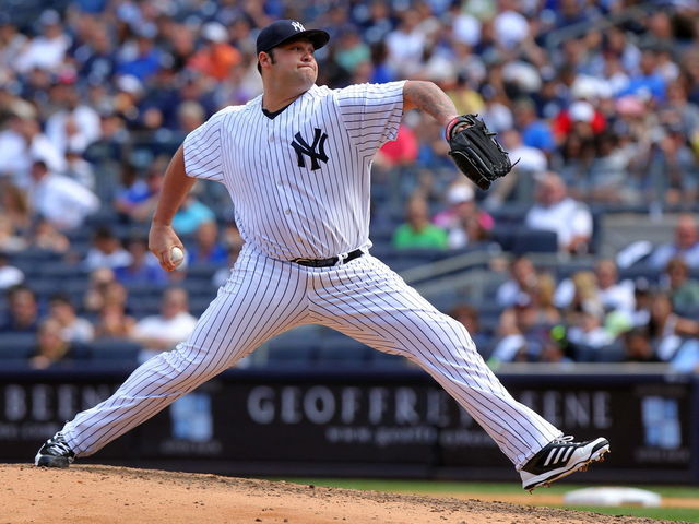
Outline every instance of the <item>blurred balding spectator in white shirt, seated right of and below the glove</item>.
[(532, 229), (556, 233), (562, 252), (580, 254), (590, 249), (592, 214), (584, 203), (568, 196), (566, 183), (553, 171), (537, 181), (536, 203), (526, 212), (524, 223)]

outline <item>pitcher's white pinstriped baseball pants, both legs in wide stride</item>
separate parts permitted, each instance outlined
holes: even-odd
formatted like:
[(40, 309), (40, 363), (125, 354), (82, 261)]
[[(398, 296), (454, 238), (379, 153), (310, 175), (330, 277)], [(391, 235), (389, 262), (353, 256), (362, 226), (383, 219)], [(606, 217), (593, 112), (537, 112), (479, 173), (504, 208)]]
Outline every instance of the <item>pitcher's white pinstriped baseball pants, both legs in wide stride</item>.
[(232, 367), (269, 338), (305, 323), (335, 329), (427, 371), (519, 469), (561, 432), (517, 402), (485, 365), (464, 326), (436, 310), (378, 259), (305, 267), (246, 246), (192, 335), (151, 358), (106, 401), (67, 422), (90, 455)]

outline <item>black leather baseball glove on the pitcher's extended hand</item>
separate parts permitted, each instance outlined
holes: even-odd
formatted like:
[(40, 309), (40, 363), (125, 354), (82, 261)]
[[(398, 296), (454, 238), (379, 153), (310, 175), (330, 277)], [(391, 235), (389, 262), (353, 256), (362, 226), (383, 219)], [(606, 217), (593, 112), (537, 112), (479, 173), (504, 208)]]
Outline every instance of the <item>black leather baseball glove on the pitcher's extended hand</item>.
[(449, 155), (457, 167), (484, 191), (503, 177), (512, 163), (502, 146), (478, 115), (454, 117), (447, 126)]

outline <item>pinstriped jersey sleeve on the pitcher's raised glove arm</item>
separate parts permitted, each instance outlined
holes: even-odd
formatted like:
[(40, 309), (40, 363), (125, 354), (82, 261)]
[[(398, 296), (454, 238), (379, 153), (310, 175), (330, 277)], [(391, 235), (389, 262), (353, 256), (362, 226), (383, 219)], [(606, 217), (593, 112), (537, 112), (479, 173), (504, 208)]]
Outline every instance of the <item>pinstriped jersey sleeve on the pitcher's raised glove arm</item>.
[(395, 140), (403, 118), (404, 85), (403, 80), (351, 85), (335, 92), (340, 114), (359, 151), (374, 155), (386, 142)]

